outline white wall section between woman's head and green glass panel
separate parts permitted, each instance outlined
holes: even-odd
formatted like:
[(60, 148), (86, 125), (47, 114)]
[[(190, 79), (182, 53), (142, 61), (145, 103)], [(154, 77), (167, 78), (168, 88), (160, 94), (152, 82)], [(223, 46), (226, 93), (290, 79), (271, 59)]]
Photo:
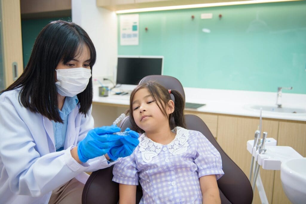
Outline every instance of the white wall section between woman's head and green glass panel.
[(114, 79), (117, 64), (117, 15), (97, 7), (96, 0), (72, 0), (72, 22), (80, 25), (95, 45), (97, 60), (92, 70), (93, 78)]

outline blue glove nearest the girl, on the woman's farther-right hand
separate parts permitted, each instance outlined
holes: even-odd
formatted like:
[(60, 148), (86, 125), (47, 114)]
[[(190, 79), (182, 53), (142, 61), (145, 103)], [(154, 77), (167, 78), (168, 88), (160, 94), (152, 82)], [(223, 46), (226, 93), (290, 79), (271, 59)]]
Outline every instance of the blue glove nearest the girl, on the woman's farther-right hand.
[(119, 157), (127, 157), (131, 155), (139, 144), (138, 133), (130, 130), (129, 128), (127, 128), (125, 132), (128, 132), (129, 135), (121, 136), (120, 140), (116, 141), (116, 146), (110, 148), (110, 150), (107, 152), (107, 155), (112, 160), (117, 160)]

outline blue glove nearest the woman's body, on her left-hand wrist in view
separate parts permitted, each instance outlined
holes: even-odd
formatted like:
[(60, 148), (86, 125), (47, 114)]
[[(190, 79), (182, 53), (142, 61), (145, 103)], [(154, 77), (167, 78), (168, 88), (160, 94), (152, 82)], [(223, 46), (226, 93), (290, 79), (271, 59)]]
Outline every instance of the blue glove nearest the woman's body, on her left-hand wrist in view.
[(90, 130), (84, 140), (80, 141), (77, 154), (81, 162), (105, 155), (111, 147), (118, 144), (122, 136), (113, 134), (119, 132), (117, 126), (103, 126)]

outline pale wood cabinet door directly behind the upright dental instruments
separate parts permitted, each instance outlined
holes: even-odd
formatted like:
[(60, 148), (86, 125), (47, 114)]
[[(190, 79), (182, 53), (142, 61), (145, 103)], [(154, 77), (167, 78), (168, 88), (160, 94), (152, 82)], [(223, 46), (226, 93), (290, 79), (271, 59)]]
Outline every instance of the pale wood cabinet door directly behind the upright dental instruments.
[[(248, 140), (254, 139), (258, 125), (258, 118), (218, 115), (217, 141), (247, 177), (250, 171), (251, 154), (247, 151), (246, 144)], [(277, 139), (278, 121), (263, 119), (262, 130), (268, 133), (268, 137)], [(271, 203), (274, 171), (260, 169), (260, 176), (267, 194), (267, 199)], [(254, 193), (253, 203), (260, 203), (258, 191)]]

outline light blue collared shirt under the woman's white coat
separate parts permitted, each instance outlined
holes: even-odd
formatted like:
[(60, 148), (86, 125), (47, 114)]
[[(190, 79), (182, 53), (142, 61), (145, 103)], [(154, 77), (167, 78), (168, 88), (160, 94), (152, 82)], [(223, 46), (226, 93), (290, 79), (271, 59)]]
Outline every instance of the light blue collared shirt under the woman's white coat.
[(68, 115), (76, 107), (76, 104), (78, 102), (79, 100), (77, 96), (65, 97), (62, 110), (59, 110), (59, 115), (61, 116), (64, 123), (62, 124), (60, 122), (52, 121), (56, 151), (61, 151), (64, 149), (64, 143), (65, 143), (66, 131), (68, 125)]

